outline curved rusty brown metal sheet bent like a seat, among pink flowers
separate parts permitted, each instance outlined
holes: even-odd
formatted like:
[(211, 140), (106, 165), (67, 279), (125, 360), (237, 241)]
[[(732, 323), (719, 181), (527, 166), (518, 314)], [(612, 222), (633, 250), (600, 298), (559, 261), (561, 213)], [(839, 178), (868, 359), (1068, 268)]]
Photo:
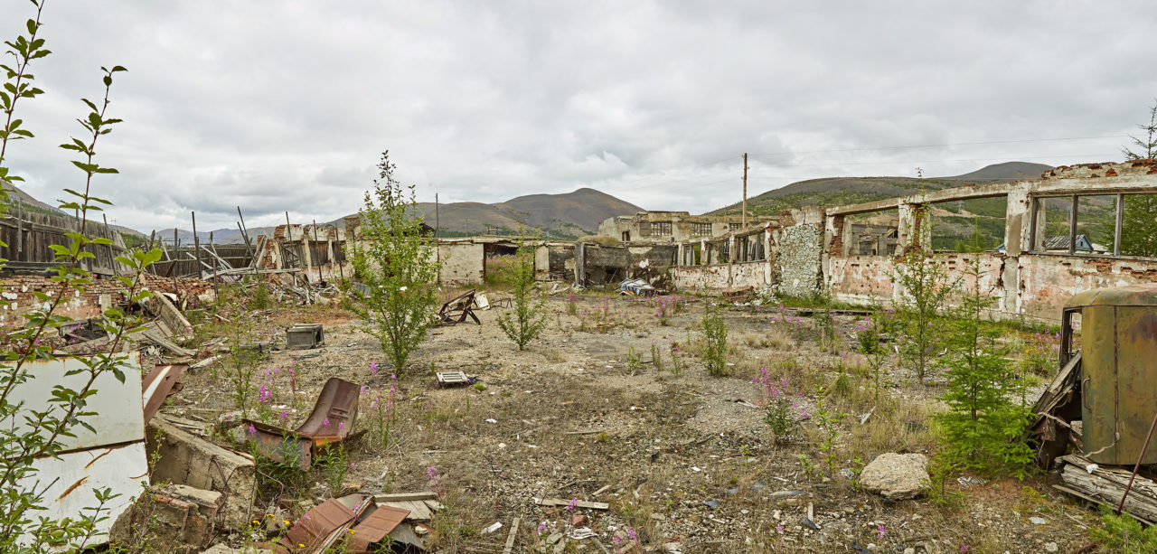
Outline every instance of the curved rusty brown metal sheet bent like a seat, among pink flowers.
[(264, 456), (309, 470), (314, 455), (326, 444), (352, 436), (358, 420), (358, 399), (361, 387), (348, 381), (330, 377), (317, 397), (309, 418), (294, 430), (258, 421), (243, 420), (250, 427), (250, 441)]

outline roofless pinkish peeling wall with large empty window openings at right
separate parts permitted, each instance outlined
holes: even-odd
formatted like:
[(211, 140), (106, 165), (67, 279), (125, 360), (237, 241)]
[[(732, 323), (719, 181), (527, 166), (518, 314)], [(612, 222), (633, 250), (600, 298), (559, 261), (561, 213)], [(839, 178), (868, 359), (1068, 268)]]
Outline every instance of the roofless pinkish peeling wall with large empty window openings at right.
[[(921, 202), (1005, 197), (1007, 250), (1003, 254), (983, 253), (985, 275), (981, 289), (995, 298), (997, 317), (1027, 317), (1057, 320), (1061, 308), (1083, 290), (1157, 282), (1157, 260), (1125, 259), (1096, 256), (1031, 253), (1032, 198), (1066, 194), (1114, 194), (1157, 192), (1157, 162), (1138, 161), (1115, 164), (1081, 164), (1049, 170), (1031, 182), (971, 185), (934, 191), (926, 195), (880, 200), (828, 210), (828, 228), (833, 217), (900, 208), (900, 251), (928, 250), (931, 231), (921, 226)], [(1040, 222), (1038, 221), (1038, 232)], [(935, 254), (953, 278), (965, 278), (971, 254)], [(831, 249), (825, 261), (825, 286), (837, 300), (853, 303), (893, 301), (901, 294), (892, 280), (896, 259), (885, 256), (839, 256)], [(967, 281), (964, 287), (971, 287)]]

